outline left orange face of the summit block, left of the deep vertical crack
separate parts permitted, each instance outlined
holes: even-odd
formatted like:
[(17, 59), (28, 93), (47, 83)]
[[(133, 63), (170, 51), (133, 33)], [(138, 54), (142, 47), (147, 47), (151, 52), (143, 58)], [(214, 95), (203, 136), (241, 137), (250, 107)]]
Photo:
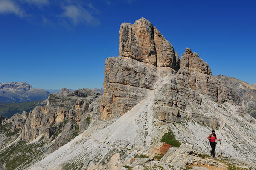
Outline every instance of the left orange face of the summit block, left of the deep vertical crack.
[(154, 29), (148, 20), (141, 18), (133, 25), (122, 23), (119, 34), (119, 56), (157, 65)]

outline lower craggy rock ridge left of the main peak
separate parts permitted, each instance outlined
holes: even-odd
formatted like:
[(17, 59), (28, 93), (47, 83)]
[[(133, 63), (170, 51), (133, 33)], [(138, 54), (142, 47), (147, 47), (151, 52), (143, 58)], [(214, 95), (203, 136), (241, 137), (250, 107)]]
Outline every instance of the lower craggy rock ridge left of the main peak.
[[(43, 142), (55, 140), (52, 151), (61, 147), (73, 136), (78, 134), (79, 125), (84, 127), (84, 119), (88, 115), (88, 107), (93, 100), (101, 94), (90, 89), (79, 89), (68, 96), (61, 94), (50, 94), (46, 106), (37, 106), (31, 111), (21, 131), (21, 138), (24, 141), (32, 141), (42, 136)], [(83, 129), (80, 131), (82, 132)], [(66, 133), (66, 135), (64, 135)], [(77, 135), (76, 134), (76, 135)]]

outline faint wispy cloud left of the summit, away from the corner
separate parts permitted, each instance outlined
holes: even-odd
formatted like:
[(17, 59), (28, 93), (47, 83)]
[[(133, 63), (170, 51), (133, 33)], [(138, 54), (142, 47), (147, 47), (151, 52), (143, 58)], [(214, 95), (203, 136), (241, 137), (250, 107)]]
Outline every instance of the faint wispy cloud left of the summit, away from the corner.
[(99, 25), (100, 22), (97, 18), (93, 17), (85, 8), (82, 6), (69, 5), (63, 7), (63, 17), (70, 18), (74, 24), (86, 21), (93, 25)]

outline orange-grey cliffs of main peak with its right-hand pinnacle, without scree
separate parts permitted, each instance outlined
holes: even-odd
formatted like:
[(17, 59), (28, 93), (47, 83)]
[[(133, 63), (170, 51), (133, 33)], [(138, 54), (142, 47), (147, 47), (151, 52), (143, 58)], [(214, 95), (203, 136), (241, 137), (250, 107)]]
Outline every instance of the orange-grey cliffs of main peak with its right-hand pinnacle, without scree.
[(105, 61), (104, 94), (90, 105), (93, 117), (110, 119), (125, 114), (155, 88), (158, 77), (168, 75), (173, 75), (171, 84), (164, 93), (159, 92), (154, 107), (163, 121), (180, 121), (178, 118), (188, 105), (201, 104), (199, 94), (240, 105), (237, 95), (212, 77), (209, 65), (197, 53), (186, 48), (179, 59), (172, 45), (145, 18), (134, 24), (122, 23), (119, 34), (119, 57)]

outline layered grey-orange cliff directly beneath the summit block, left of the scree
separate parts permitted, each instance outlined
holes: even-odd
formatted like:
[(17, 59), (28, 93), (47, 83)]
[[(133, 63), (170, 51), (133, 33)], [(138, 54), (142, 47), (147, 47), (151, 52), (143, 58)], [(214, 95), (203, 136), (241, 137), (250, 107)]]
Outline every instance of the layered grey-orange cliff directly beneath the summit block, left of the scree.
[(100, 119), (121, 116), (145, 98), (158, 75), (143, 63), (125, 57), (105, 61), (104, 94), (89, 110)]

